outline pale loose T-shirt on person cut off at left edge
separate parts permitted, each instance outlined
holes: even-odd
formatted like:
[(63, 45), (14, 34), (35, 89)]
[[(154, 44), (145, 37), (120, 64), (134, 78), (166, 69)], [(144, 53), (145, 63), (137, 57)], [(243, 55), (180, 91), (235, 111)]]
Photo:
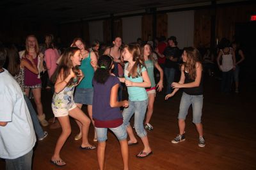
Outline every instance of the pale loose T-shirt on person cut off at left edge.
[(7, 70), (0, 73), (0, 157), (14, 159), (31, 151), (36, 143), (35, 131), (19, 84)]

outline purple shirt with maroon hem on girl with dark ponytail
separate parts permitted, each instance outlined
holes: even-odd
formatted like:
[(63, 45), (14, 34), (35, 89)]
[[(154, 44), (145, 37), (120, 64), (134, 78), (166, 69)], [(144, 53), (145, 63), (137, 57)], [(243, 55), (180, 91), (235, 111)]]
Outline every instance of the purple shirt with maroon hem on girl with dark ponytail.
[(116, 84), (120, 86), (120, 81), (113, 75), (110, 75), (104, 84), (100, 84), (93, 79), (92, 117), (97, 128), (116, 128), (123, 123), (120, 108), (110, 107), (109, 104), (111, 89)]

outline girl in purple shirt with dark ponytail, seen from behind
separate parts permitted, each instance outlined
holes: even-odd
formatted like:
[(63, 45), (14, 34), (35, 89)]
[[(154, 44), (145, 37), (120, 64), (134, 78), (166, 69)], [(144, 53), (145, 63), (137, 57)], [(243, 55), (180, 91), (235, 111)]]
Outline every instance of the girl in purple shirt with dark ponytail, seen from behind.
[(120, 81), (111, 75), (114, 68), (111, 56), (101, 56), (97, 70), (93, 77), (93, 120), (98, 139), (99, 168), (104, 169), (104, 155), (108, 128), (116, 135), (121, 145), (124, 169), (128, 169), (128, 144), (127, 132), (123, 124), (123, 116), (119, 107), (128, 107), (127, 100), (118, 102), (117, 94)]

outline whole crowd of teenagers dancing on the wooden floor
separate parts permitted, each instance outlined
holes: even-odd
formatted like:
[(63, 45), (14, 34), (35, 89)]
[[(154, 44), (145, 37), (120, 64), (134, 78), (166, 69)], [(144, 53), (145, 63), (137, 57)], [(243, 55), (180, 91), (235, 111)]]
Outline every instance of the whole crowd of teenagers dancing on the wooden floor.
[[(160, 40), (157, 45), (153, 45), (152, 41), (124, 45), (122, 38), (117, 36), (111, 47), (102, 45), (106, 49), (101, 49), (99, 41), (94, 41), (92, 48), (88, 49), (82, 38), (74, 38), (70, 47), (63, 52), (54, 46), (53, 40), (52, 35), (45, 36), (45, 46), (40, 48), (36, 36), (29, 35), (25, 50), (18, 52), (14, 45), (0, 49), (0, 99), (4, 101), (0, 107), (0, 157), (6, 160), (6, 169), (31, 169), (35, 134), (39, 141), (48, 135), (41, 127), (49, 124), (45, 120), (41, 102), (41, 72), (48, 74), (47, 86), (53, 93), (52, 112), (62, 128), (52, 157), (49, 158), (56, 166), (66, 165), (60, 152), (71, 134), (69, 116), (76, 120), (79, 127), (75, 140), (81, 139), (81, 150), (97, 149), (99, 169), (104, 169), (108, 129), (120, 142), (124, 169), (129, 169), (129, 145), (141, 141), (143, 148), (136, 157), (152, 155), (147, 131), (154, 129), (150, 119), (156, 93), (163, 90), (164, 80), (165, 100), (173, 97), (180, 88), (183, 91), (178, 114), (179, 134), (171, 142), (177, 144), (186, 139), (185, 120), (192, 105), (198, 146), (205, 146), (201, 122), (203, 63), (208, 58), (209, 66), (211, 55), (204, 56), (203, 62), (195, 47), (185, 47), (180, 53), (175, 36), (170, 36), (167, 43)], [(244, 55), (241, 50), (237, 50), (236, 54), (236, 44), (233, 43), (234, 48), (229, 47), (228, 40), (223, 40), (223, 45), (216, 60), (223, 72), (221, 91), (230, 91), (235, 70), (238, 92), (239, 70), (236, 70), (236, 66), (243, 61)], [(210, 68), (211, 65), (207, 67)], [(177, 72), (180, 72), (180, 79), (174, 82)], [(124, 88), (127, 88), (128, 100), (122, 100)], [(31, 93), (36, 109), (29, 100)], [(81, 110), (83, 105), (87, 105), (88, 116)], [(132, 116), (134, 123), (131, 125)], [(17, 126), (20, 122), (27, 126)], [(90, 123), (94, 128), (93, 141), (97, 142), (97, 146), (88, 140)], [(134, 135), (133, 128), (140, 141)], [(10, 136), (11, 132), (13, 135)], [(10, 141), (12, 144), (8, 145)], [(15, 141), (25, 142), (19, 146)], [(15, 150), (17, 148), (19, 150)]]

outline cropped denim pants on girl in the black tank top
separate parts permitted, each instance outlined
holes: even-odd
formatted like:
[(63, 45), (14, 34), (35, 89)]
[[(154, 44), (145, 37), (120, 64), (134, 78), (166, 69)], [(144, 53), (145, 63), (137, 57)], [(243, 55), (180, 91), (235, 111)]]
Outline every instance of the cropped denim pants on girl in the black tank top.
[(203, 95), (188, 95), (183, 92), (178, 119), (186, 120), (189, 106), (192, 104), (193, 123), (201, 123), (203, 99)]

